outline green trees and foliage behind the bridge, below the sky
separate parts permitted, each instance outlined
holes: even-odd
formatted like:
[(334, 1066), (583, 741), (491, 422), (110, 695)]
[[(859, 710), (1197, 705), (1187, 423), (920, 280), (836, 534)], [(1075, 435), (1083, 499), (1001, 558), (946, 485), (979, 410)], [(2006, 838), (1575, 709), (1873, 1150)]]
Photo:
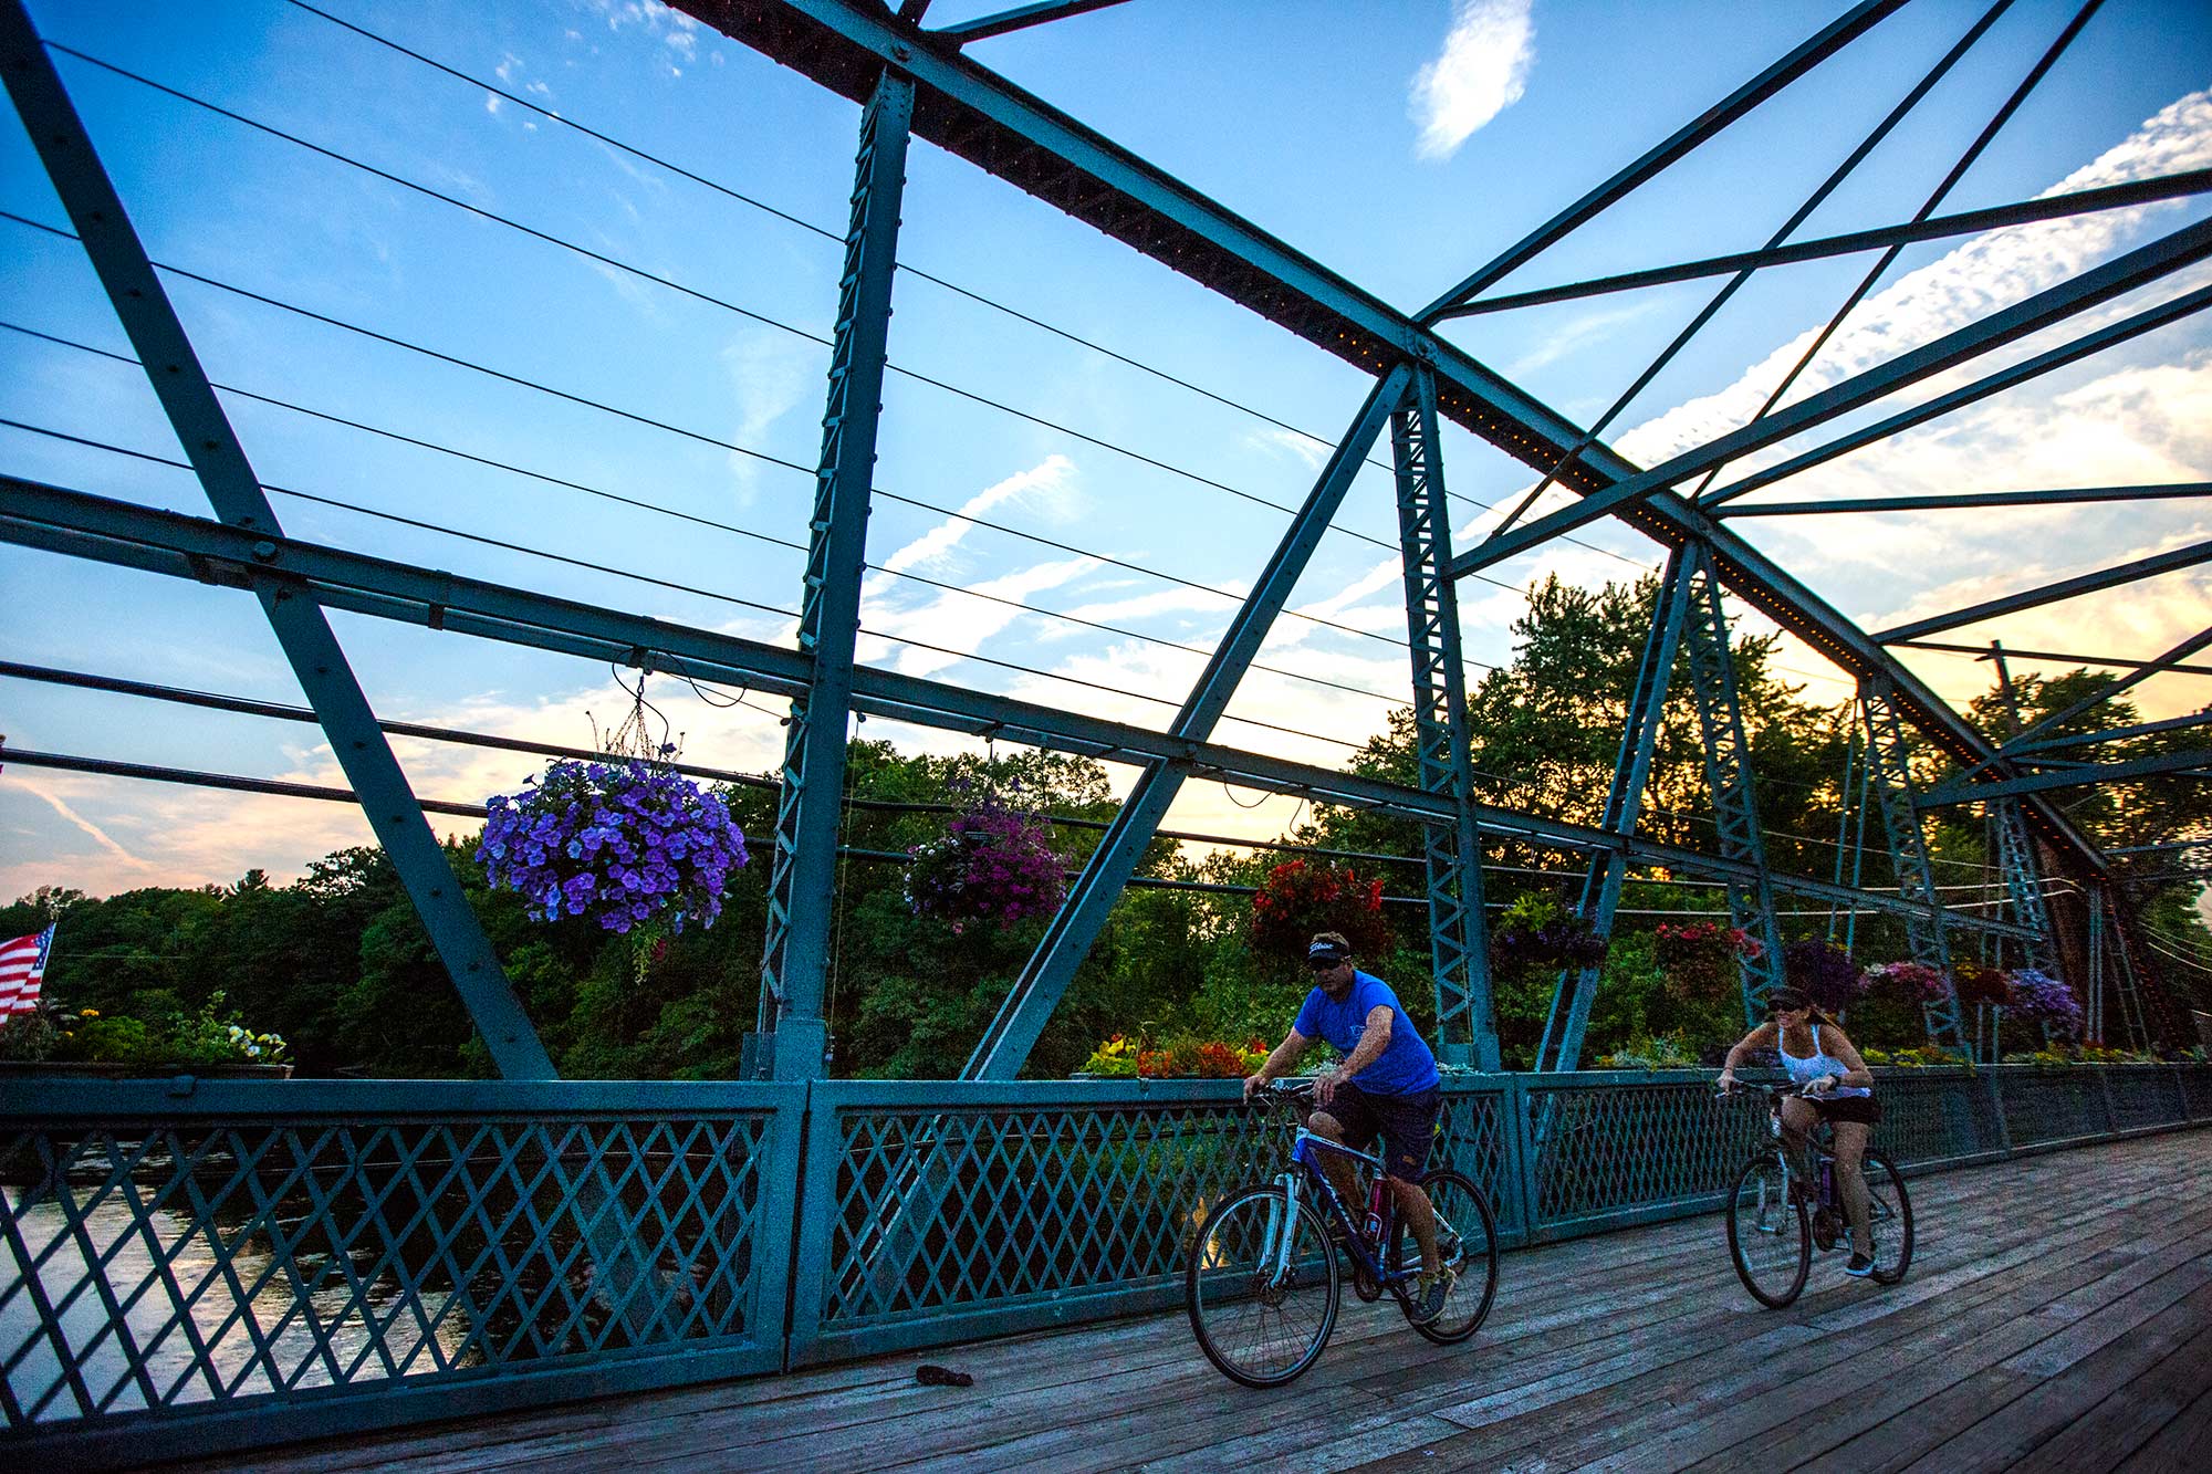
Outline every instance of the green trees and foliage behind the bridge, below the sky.
[[(1482, 677), (1469, 695), (1478, 799), (1546, 817), (1595, 823), (1613, 777), (1615, 748), (1628, 715), (1637, 662), (1652, 620), (1655, 580), (1597, 591), (1546, 582), (1515, 622), (1515, 655)], [(1781, 870), (1825, 876), (1836, 854), (1820, 843), (1836, 834), (1838, 779), (1849, 730), (1845, 710), (1823, 710), (1772, 671), (1776, 642), (1734, 644), (1745, 726), (1759, 783), (1761, 819)], [(2101, 677), (2068, 673), (2015, 679), (2024, 722), (2037, 722)], [(2008, 735), (2011, 713), (1995, 697), (1975, 702), (1971, 719), (1993, 737)], [(2128, 702), (2108, 702), (2053, 730), (2095, 733), (2135, 722)], [(1418, 781), (1411, 722), (1391, 717), (1352, 761), (1363, 775)], [(2152, 733), (2086, 748), (2079, 757), (2124, 759), (2185, 748), (2192, 733)], [(1922, 781), (1949, 766), (1916, 748)], [(825, 1014), (832, 1073), (949, 1078), (1006, 998), (1006, 989), (1044, 934), (1044, 921), (1018, 925), (947, 925), (914, 916), (896, 863), (865, 852), (907, 854), (947, 832), (953, 812), (975, 792), (1024, 795), (1055, 821), (1053, 845), (1082, 865), (1115, 812), (1106, 768), (1088, 759), (1022, 752), (1004, 759), (900, 755), (885, 741), (854, 741), (841, 839), (830, 983)], [(732, 817), (750, 837), (774, 830), (772, 786), (723, 790)], [(922, 806), (922, 808), (880, 808)], [(933, 810), (929, 808), (933, 806)], [(2148, 779), (2068, 797), (2073, 821), (2097, 843), (2135, 845), (2212, 834), (2212, 788), (2188, 779)], [(1663, 708), (1646, 792), (1644, 834), (1692, 850), (1717, 839), (1705, 795), (1705, 764), (1690, 682), (1677, 668)], [(1383, 881), (1389, 941), (1374, 943), (1360, 965), (1389, 980), (1413, 1023), (1433, 1038), (1433, 976), (1420, 903), (1425, 861), (1418, 826), (1367, 810), (1316, 806), (1285, 837), (1298, 845), (1338, 850), (1336, 861)], [(1982, 861), (1984, 826), (1971, 812), (1931, 826), (1938, 861)], [(761, 938), (768, 923), (772, 859), (728, 881), (723, 918), (712, 932), (684, 936), (648, 958), (639, 976), (628, 945), (584, 918), (535, 921), (507, 892), (487, 887), (471, 843), (447, 848), (469, 905), (480, 916), (546, 1049), (577, 1078), (730, 1078), (743, 1036), (759, 1018)], [(765, 850), (765, 845), (763, 845)], [(1155, 841), (1139, 865), (1148, 879), (1190, 890), (1128, 890), (1053, 1014), (1029, 1073), (1064, 1076), (1084, 1065), (1099, 1040), (1217, 1040), (1243, 1045), (1283, 1038), (1307, 992), (1296, 972), (1263, 965), (1254, 945), (1248, 887), (1283, 863), (1283, 852), (1214, 850), (1183, 854)], [(1327, 859), (1327, 857), (1323, 857)], [(1528, 841), (1486, 841), (1493, 934), (1515, 921), (1551, 923), (1562, 896), (1579, 894), (1582, 865)], [(2119, 861), (2119, 899), (2135, 923), (2163, 938), (2137, 956), (2177, 996), (2212, 1007), (2212, 972), (2185, 961), (2212, 958), (2212, 932), (2197, 916), (2194, 883), (2170, 879), (2170, 854)], [(1531, 872), (1531, 874), (1524, 874)], [(1865, 854), (1863, 883), (1893, 885), (1876, 843)], [(1208, 890), (1230, 887), (1230, 890)], [(1243, 890), (1237, 890), (1243, 887)], [(2062, 901), (2064, 903), (2064, 901)], [(1588, 1020), (1584, 1058), (1712, 1062), (1743, 1034), (1736, 969), (1714, 952), (1703, 958), (1661, 956), (1648, 930), (1657, 914), (1705, 912), (1710, 890), (1686, 890), (1659, 874), (1630, 876), (1621, 927), (1601, 961), (1601, 985)], [(341, 850), (305, 876), (274, 885), (250, 872), (228, 887), (133, 890), (104, 899), (42, 887), (0, 907), (0, 936), (60, 921), (46, 992), (58, 1009), (102, 1018), (84, 1049), (126, 1056), (175, 1038), (179, 1020), (223, 1020), (283, 1036), (301, 1073), (330, 1076), (482, 1076), (489, 1058), (471, 1031), (442, 963), (416, 918), (398, 876), (378, 850)], [(1303, 923), (1301, 923), (1303, 925)], [(1785, 934), (1818, 934), (1816, 921)], [(1345, 930), (1345, 927), (1336, 927)], [(1533, 932), (1542, 932), (1535, 925)], [(1891, 918), (1860, 916), (1860, 958), (1907, 956)], [(2011, 963), (2006, 963), (2011, 965)], [(1557, 965), (1502, 972), (1498, 1023), (1509, 1065), (1528, 1065)], [(62, 1018), (62, 1011), (53, 1014)], [(126, 1020), (146, 1029), (133, 1034)], [(1918, 1005), (1880, 994), (1851, 1005), (1847, 1027), (1863, 1047), (1911, 1049), (1920, 1042)], [(35, 1049), (77, 1049), (75, 1025), (44, 1038), (33, 1018), (0, 1029), (0, 1051), (33, 1058)], [(1172, 1051), (1170, 1051), (1172, 1053)]]

